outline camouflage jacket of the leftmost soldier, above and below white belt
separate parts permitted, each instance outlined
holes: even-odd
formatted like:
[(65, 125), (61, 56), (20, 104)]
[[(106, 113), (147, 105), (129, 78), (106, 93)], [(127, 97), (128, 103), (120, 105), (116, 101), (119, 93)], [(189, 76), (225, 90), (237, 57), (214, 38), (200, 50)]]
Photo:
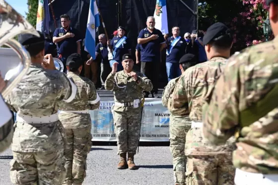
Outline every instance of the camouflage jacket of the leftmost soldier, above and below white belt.
[[(25, 76), (12, 90), (5, 102), (20, 115), (49, 116), (58, 112), (58, 102), (71, 95), (70, 81), (58, 70), (44, 69), (31, 64)], [(16, 152), (44, 152), (65, 147), (63, 125), (53, 123), (16, 122), (12, 150)]]

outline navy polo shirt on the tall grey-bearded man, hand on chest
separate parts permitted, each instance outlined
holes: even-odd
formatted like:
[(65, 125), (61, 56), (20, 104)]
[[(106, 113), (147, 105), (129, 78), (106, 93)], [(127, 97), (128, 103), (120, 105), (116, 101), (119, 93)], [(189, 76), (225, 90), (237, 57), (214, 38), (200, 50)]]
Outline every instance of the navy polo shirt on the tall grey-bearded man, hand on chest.
[(141, 44), (141, 62), (152, 62), (154, 60), (157, 61), (157, 58), (160, 59), (160, 44), (165, 43), (163, 34), (160, 30), (154, 28), (153, 32), (150, 33), (147, 28), (142, 29), (138, 38), (145, 39), (151, 35), (158, 35), (159, 37), (158, 39)]

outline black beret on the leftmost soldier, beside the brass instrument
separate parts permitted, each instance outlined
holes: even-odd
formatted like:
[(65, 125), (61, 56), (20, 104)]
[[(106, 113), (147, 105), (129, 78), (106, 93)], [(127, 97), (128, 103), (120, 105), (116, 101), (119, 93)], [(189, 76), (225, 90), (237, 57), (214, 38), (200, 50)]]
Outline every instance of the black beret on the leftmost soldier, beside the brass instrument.
[(18, 35), (18, 41), (22, 46), (30, 46), (30, 45), (35, 45), (39, 43), (45, 42), (45, 38), (42, 32), (38, 31), (40, 34), (40, 37), (37, 37), (32, 34), (20, 34)]

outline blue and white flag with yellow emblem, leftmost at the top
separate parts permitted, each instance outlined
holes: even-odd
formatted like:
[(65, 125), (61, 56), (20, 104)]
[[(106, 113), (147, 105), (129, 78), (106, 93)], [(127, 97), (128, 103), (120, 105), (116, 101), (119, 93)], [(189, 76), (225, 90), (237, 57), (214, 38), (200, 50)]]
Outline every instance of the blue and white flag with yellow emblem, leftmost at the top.
[(49, 21), (48, 0), (39, 0), (36, 30), (49, 35)]

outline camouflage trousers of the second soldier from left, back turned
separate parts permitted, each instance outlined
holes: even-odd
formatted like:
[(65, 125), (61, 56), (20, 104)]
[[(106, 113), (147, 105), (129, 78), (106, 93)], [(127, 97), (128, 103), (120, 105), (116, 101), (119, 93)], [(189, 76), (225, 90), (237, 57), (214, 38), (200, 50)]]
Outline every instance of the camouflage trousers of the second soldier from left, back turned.
[(66, 179), (64, 185), (81, 185), (86, 177), (87, 155), (91, 150), (91, 126), (88, 128), (65, 129), (67, 137)]

